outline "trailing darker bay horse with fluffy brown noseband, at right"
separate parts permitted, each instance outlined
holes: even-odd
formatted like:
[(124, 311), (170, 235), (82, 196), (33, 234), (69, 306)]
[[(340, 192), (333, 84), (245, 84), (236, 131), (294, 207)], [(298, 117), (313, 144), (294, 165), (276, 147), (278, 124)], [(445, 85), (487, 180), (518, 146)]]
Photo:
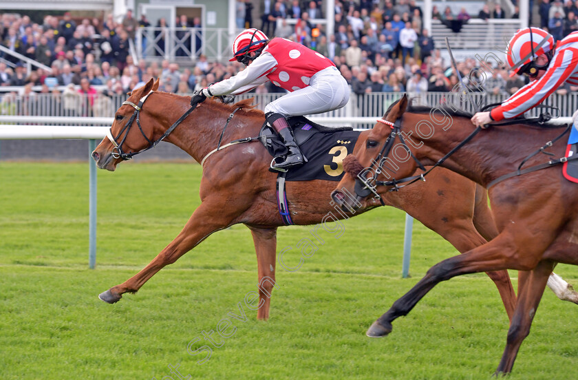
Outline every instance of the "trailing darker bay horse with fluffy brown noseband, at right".
[[(396, 162), (396, 180), (411, 176), (418, 162), (422, 165), (440, 162), (441, 167), (484, 187), (493, 184), (489, 189), (489, 200), (498, 235), (486, 244), (432, 266), (425, 277), (372, 324), (367, 335), (388, 335), (392, 332), (392, 321), (407, 315), (439, 282), (467, 273), (517, 270), (520, 274), (515, 313), (496, 370), (496, 374), (509, 373), (522, 341), (530, 332), (535, 311), (555, 264), (578, 264), (578, 189), (564, 179), (560, 166), (512, 176), (497, 183), (494, 181), (515, 173), (520, 162), (546, 142), (553, 142), (546, 151), (555, 157), (564, 157), (566, 143), (561, 138), (555, 139), (563, 129), (515, 121), (512, 125), (491, 125), (480, 131), (474, 129), (471, 115), (456, 109), (407, 107), (408, 100), (404, 95), (390, 107), (385, 120), (377, 123), (367, 134), (365, 144), (359, 147), (355, 156), (345, 158), (343, 165), (347, 173), (332, 196), (342, 199), (341, 191), (353, 189), (355, 178), (362, 184), (364, 180), (367, 183), (364, 171), (372, 167), (372, 160), (376, 162), (380, 149), (384, 152), (384, 147), (392, 146), (386, 143), (387, 138), (392, 136), (394, 140), (389, 141), (395, 144), (400, 141), (397, 138), (401, 134), (405, 142), (396, 145), (400, 150), (389, 150), (393, 152), (390, 159), (396, 155), (400, 158)], [(550, 157), (537, 154), (527, 161), (526, 166), (553, 160)], [(377, 160), (387, 162), (383, 157)], [(387, 164), (391, 168), (391, 161)], [(383, 184), (394, 186), (394, 181)], [(418, 187), (411, 185), (407, 190), (412, 186)], [(363, 198), (363, 194), (358, 198)]]

